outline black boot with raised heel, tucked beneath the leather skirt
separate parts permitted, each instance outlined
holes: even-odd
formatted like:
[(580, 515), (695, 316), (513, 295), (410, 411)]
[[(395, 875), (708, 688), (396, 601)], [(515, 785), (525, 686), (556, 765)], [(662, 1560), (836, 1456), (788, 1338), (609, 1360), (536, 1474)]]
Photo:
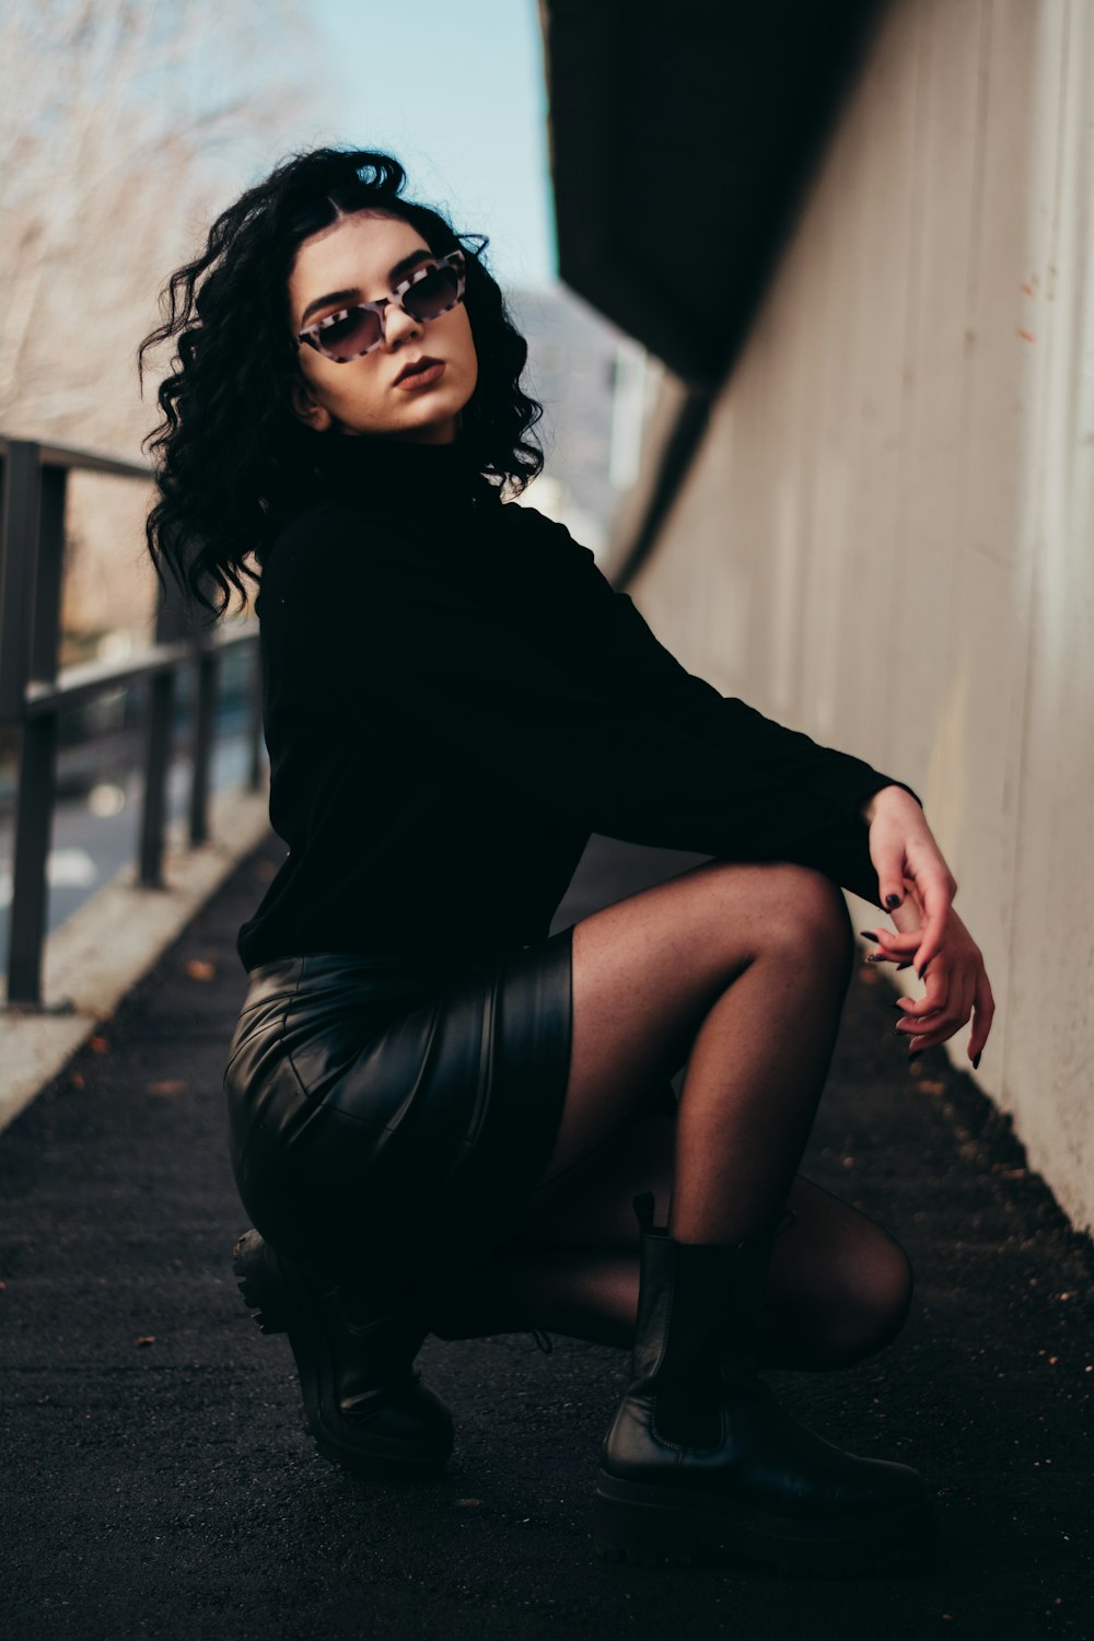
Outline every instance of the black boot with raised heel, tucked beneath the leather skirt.
[(369, 1305), (282, 1259), (258, 1231), (233, 1249), (239, 1291), (262, 1332), (287, 1332), (315, 1446), (364, 1475), (426, 1475), (453, 1451), (453, 1416), (413, 1359), (428, 1326), (407, 1306)]

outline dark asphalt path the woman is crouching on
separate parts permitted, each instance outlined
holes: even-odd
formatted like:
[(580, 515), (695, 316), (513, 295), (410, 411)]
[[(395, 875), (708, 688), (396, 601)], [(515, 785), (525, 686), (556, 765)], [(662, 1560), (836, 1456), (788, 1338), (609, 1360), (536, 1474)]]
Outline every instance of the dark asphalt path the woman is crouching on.
[[(458, 1426), (438, 1479), (328, 1465), (230, 1264), (235, 935), (282, 853), (271, 837), (244, 860), (0, 1134), (5, 1641), (1094, 1636), (1091, 1241), (941, 1052), (909, 1072), (873, 970), (802, 1172), (902, 1241), (912, 1313), (871, 1360), (768, 1377), (804, 1424), (928, 1477), (933, 1567), (602, 1562), (590, 1495), (627, 1354), (559, 1334), (551, 1355), (526, 1334), (426, 1341)], [(699, 858), (594, 839), (554, 926)]]

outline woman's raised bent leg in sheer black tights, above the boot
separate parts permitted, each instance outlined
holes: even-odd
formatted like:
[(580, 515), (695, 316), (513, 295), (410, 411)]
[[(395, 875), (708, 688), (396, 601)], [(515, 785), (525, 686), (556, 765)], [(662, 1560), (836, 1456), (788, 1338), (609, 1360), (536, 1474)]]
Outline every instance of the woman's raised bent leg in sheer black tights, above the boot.
[(672, 1234), (777, 1219), (851, 971), (840, 891), (804, 866), (705, 862), (574, 926), (574, 1031), (535, 1213), (687, 1062)]

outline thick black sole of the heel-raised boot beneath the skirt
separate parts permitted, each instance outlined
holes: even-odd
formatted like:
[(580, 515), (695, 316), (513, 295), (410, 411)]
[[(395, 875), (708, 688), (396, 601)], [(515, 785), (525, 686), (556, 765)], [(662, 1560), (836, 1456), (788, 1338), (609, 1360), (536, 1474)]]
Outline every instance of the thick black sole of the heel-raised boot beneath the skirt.
[(364, 1431), (338, 1408), (330, 1347), (307, 1288), (294, 1282), (269, 1246), (254, 1231), (235, 1244), (231, 1267), (239, 1293), (264, 1334), (284, 1332), (300, 1377), (303, 1428), (330, 1464), (354, 1475), (377, 1479), (435, 1475), (453, 1452), (453, 1438), (436, 1436), (413, 1444)]

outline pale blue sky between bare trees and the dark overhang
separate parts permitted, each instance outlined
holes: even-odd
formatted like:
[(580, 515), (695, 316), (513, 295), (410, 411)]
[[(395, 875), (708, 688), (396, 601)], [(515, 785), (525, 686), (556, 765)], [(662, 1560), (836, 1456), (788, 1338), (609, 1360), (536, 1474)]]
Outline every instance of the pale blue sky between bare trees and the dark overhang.
[(554, 282), (543, 44), (535, 0), (312, 0), (330, 66), (317, 141), (394, 153), (407, 194), (487, 233), (504, 286)]

